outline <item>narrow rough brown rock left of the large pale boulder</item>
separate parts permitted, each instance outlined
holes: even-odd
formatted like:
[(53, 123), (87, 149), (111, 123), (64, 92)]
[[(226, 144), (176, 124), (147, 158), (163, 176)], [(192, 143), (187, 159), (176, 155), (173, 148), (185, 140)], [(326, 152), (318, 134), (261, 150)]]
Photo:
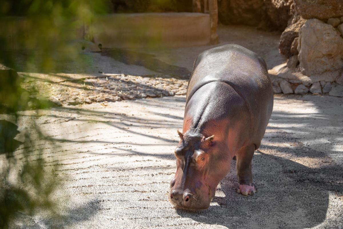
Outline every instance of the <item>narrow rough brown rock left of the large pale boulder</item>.
[(295, 14), (293, 15), (292, 19), (289, 20), (289, 25), (287, 26), (285, 31), (282, 32), (279, 43), (279, 51), (286, 58), (292, 56), (292, 43), (294, 39), (299, 36), (298, 32), (305, 22), (306, 20), (303, 19), (303, 17)]

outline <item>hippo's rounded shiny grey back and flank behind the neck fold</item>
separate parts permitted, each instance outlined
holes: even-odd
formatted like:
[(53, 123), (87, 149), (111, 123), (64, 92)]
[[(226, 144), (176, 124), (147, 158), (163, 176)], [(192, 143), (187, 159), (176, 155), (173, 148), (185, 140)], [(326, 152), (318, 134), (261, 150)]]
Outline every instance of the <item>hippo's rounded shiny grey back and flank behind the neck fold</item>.
[(262, 139), (273, 109), (273, 90), (264, 60), (255, 52), (233, 44), (202, 52), (194, 62), (186, 106), (199, 88), (211, 82), (226, 83), (244, 100), (251, 135)]

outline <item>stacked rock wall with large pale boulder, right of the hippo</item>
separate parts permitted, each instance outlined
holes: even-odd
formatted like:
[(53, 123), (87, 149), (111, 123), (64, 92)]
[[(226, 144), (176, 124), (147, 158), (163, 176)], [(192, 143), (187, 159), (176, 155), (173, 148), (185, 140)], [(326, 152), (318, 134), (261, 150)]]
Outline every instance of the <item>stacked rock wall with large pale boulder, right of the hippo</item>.
[(279, 49), (288, 59), (270, 70), (275, 93), (343, 97), (342, 0), (294, 0)]

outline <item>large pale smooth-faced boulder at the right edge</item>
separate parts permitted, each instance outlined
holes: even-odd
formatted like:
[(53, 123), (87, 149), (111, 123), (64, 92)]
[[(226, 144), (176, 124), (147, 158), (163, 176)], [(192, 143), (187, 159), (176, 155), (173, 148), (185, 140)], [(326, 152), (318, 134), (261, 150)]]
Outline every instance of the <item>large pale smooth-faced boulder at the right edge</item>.
[(298, 51), (301, 73), (305, 75), (343, 68), (343, 38), (318, 19), (307, 20), (301, 27)]

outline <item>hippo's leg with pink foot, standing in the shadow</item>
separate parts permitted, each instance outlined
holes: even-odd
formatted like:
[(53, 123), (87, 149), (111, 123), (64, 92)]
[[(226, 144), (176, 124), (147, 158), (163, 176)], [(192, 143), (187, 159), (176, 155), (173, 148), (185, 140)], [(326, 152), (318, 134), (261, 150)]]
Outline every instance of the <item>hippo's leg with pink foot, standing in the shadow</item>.
[(252, 183), (251, 160), (255, 152), (255, 144), (243, 146), (237, 153), (236, 170), (238, 177), (237, 192), (247, 196), (255, 194), (257, 188)]

